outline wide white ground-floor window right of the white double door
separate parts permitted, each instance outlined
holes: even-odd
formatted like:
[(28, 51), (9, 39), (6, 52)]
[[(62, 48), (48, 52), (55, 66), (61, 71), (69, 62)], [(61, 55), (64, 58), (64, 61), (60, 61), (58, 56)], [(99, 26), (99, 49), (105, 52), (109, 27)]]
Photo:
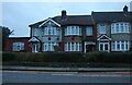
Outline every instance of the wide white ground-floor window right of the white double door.
[(112, 51), (129, 51), (130, 41), (111, 41)]

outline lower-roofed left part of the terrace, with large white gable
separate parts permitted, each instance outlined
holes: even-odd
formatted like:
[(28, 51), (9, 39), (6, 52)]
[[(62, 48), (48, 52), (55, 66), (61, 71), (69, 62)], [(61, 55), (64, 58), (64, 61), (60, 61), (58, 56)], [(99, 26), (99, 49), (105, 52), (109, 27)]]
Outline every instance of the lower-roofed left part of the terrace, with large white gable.
[(30, 42), (36, 39), (34, 45), (41, 45), (41, 51), (54, 51), (54, 46), (65, 52), (96, 50), (96, 29), (91, 15), (67, 15), (63, 10), (61, 16), (31, 24), (30, 27)]

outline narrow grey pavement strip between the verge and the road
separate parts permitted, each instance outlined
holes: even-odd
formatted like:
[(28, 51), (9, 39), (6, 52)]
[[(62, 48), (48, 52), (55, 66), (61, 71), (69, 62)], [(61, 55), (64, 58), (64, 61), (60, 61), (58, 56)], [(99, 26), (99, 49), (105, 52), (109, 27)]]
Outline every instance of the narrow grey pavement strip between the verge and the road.
[(130, 68), (43, 68), (43, 66), (2, 66), (8, 71), (45, 71), (45, 72), (132, 72)]

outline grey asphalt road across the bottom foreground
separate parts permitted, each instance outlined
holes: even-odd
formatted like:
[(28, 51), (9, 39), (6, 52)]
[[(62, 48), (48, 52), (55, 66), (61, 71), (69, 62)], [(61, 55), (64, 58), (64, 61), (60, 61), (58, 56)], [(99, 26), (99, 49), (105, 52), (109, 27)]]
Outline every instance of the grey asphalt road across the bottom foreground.
[(3, 71), (3, 83), (131, 83), (129, 73)]

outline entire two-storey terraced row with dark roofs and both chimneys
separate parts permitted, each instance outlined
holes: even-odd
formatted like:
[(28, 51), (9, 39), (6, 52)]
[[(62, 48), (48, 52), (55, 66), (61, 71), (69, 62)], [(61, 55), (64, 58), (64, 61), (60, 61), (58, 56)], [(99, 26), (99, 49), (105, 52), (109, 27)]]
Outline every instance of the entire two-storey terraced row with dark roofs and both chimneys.
[(55, 47), (64, 52), (112, 52), (132, 47), (132, 12), (127, 5), (120, 12), (91, 15), (67, 15), (63, 10), (62, 15), (29, 26), (26, 44), (32, 52), (55, 51)]

